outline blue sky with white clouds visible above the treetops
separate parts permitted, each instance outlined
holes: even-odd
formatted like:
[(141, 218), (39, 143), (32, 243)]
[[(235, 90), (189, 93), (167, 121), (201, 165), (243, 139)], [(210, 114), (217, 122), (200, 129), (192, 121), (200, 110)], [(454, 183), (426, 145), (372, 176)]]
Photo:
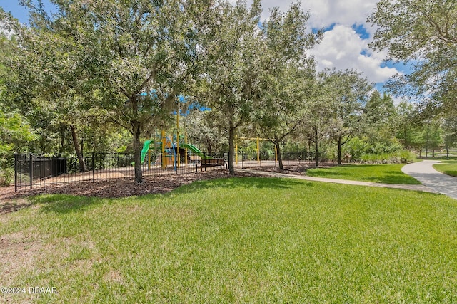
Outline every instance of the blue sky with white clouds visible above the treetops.
[[(235, 2), (236, 0), (230, 0)], [(321, 43), (311, 53), (318, 61), (318, 70), (352, 68), (366, 75), (369, 81), (376, 83), (378, 90), (383, 90), (383, 83), (396, 73), (408, 73), (405, 65), (383, 62), (386, 51), (373, 52), (368, 43), (373, 38), (376, 28), (366, 23), (378, 0), (302, 0), (301, 6), (311, 12), (311, 28), (324, 28)], [(263, 18), (268, 18), (269, 9), (279, 6), (286, 11), (292, 0), (263, 0)], [(46, 7), (51, 8), (49, 1), (44, 0)], [(0, 0), (5, 11), (19, 19), (21, 23), (28, 20), (27, 11), (19, 6), (17, 0)]]

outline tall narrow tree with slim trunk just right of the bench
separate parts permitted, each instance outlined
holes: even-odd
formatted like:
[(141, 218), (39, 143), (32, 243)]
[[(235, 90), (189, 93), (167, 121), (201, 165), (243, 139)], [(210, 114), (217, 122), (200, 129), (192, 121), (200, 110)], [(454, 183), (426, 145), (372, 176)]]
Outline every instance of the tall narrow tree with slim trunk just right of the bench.
[(243, 1), (221, 1), (205, 33), (205, 73), (199, 85), (199, 100), (222, 113), (221, 125), (229, 133), (229, 170), (234, 172), (236, 130), (251, 120), (252, 106), (261, 88), (260, 54), (263, 43), (258, 28), (261, 4), (251, 9)]

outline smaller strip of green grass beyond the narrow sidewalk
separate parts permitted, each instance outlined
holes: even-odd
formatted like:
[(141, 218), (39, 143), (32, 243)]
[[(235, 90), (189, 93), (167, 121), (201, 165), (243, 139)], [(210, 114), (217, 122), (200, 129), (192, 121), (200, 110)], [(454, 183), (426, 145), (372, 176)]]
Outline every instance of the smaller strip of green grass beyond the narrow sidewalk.
[(331, 168), (308, 169), (306, 175), (386, 184), (421, 184), (401, 172), (403, 166), (404, 164), (343, 164)]

